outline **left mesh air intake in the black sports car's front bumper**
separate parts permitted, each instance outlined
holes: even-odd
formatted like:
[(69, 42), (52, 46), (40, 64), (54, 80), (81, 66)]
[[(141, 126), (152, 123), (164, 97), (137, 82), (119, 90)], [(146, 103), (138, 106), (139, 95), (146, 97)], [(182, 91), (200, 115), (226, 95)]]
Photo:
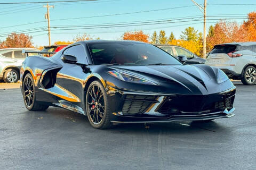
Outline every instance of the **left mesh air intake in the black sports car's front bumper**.
[(123, 114), (143, 113), (151, 104), (154, 103), (155, 96), (146, 95), (126, 95), (124, 98)]

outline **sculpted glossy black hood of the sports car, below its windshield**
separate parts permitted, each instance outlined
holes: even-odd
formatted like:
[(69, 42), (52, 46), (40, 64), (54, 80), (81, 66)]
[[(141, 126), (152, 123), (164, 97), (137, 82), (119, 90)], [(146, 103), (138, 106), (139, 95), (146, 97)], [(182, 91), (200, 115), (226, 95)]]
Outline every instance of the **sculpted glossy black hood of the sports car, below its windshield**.
[(147, 85), (123, 81), (115, 81), (114, 78), (108, 80), (110, 86), (120, 89), (130, 89), (137, 91), (157, 92), (161, 94), (191, 94), (207, 95), (225, 91), (233, 87), (231, 81), (221, 84), (217, 82), (218, 69), (205, 65), (148, 65), (148, 66), (107, 66), (107, 70), (119, 70), (130, 74), (135, 74), (146, 80), (156, 82), (158, 85)]

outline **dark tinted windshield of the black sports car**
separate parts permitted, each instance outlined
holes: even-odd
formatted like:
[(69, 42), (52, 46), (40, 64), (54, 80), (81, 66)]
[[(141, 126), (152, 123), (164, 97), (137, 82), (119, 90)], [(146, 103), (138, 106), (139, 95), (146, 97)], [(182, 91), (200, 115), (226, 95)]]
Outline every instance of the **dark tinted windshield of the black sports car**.
[(143, 43), (88, 44), (95, 65), (182, 65), (162, 49)]

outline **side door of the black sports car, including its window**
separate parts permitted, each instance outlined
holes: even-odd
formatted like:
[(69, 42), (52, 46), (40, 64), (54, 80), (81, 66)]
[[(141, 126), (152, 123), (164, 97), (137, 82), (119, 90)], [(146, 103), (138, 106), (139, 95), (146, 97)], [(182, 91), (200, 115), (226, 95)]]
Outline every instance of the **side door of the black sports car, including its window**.
[[(77, 58), (77, 63), (88, 64), (85, 48), (83, 45), (74, 45), (65, 49), (62, 53), (67, 55), (73, 55)], [(62, 69), (57, 73), (56, 83), (51, 92), (58, 94), (65, 105), (69, 108), (78, 109), (82, 111), (83, 101), (83, 85), (86, 77), (89, 73), (84, 73), (83, 69), (79, 65), (63, 63)], [(60, 101), (60, 103), (63, 103)]]

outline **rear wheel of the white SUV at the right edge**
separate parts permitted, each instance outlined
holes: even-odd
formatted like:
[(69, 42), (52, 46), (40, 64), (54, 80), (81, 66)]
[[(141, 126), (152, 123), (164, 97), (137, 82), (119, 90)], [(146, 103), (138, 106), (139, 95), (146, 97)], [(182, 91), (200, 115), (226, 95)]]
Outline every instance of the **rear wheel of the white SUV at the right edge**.
[(241, 81), (245, 85), (253, 85), (256, 83), (256, 69), (254, 66), (247, 66), (245, 68)]

